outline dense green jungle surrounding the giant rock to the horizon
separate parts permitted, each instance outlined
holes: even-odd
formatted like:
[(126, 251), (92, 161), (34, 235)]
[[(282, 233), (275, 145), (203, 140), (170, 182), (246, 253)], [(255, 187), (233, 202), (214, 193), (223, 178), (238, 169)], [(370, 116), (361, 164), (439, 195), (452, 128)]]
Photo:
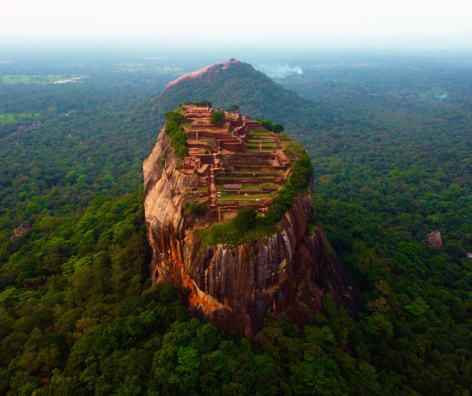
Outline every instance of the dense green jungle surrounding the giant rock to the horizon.
[(242, 54), (247, 85), (188, 98), (306, 147), (313, 221), (361, 290), (355, 316), (327, 293), (313, 325), (247, 339), (149, 279), (142, 164), (183, 100), (160, 92), (221, 60), (158, 55), (0, 58), (0, 394), (470, 394), (470, 56)]

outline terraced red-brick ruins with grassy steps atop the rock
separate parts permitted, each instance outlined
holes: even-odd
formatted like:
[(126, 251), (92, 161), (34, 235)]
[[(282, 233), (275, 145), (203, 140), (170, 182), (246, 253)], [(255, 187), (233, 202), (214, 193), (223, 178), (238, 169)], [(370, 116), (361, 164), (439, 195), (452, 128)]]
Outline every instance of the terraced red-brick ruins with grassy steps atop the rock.
[(287, 155), (293, 142), (238, 113), (224, 112), (223, 124), (211, 124), (213, 111), (193, 105), (180, 109), (189, 156), (179, 171), (198, 176), (199, 203), (216, 210), (218, 222), (232, 218), (239, 205), (264, 216), (297, 159)]

